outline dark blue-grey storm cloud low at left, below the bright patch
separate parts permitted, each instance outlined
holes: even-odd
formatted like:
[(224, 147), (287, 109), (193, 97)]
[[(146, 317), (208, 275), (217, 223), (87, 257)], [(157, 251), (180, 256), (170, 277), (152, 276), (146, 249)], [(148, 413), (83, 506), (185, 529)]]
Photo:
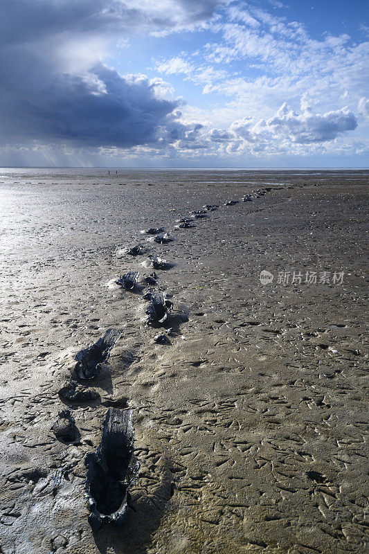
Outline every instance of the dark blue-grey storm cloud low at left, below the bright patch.
[[(71, 141), (90, 146), (152, 144), (175, 122), (178, 102), (161, 100), (147, 78), (123, 78), (100, 64), (89, 75), (54, 75), (37, 87), (34, 75), (17, 96), (0, 98), (3, 141)], [(26, 85), (28, 84), (28, 88)]]

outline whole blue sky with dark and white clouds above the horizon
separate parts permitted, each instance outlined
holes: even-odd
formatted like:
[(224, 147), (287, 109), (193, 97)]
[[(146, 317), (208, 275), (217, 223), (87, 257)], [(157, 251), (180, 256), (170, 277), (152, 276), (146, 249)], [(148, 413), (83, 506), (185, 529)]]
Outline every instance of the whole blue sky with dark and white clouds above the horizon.
[(368, 167), (364, 0), (1, 0), (0, 165)]

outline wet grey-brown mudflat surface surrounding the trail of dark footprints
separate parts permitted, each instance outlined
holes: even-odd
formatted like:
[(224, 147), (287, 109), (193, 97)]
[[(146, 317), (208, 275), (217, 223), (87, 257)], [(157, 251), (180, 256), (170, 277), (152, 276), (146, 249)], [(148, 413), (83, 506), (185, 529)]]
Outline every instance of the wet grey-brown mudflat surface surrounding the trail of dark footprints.
[[(369, 172), (111, 173), (0, 171), (0, 553), (366, 552)], [(166, 344), (150, 254), (170, 262)], [(57, 440), (74, 357), (109, 328), (100, 397)], [(93, 533), (84, 460), (111, 406), (133, 409), (141, 467), (126, 523)]]

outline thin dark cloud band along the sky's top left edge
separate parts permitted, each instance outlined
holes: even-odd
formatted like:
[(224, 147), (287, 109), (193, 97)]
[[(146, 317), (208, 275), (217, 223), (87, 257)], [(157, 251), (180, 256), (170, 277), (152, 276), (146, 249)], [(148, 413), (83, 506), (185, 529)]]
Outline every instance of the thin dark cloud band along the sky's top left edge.
[(154, 7), (147, 0), (1, 0), (0, 41), (26, 42), (64, 31), (186, 28), (209, 19), (224, 2), (172, 0), (161, 9), (159, 0)]

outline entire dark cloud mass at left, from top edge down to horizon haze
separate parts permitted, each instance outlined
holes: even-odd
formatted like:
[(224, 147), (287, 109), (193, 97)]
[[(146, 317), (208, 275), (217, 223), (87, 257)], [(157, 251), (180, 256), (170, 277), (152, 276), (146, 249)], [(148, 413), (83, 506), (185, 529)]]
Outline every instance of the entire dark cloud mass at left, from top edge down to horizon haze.
[(170, 0), (172, 9), (167, 3), (163, 10), (145, 0), (2, 0), (1, 143), (35, 139), (129, 148), (174, 141), (186, 132), (176, 120), (179, 102), (158, 98), (143, 76), (109, 69), (96, 44), (105, 44), (112, 31), (121, 37), (141, 28), (190, 28), (219, 3)]

